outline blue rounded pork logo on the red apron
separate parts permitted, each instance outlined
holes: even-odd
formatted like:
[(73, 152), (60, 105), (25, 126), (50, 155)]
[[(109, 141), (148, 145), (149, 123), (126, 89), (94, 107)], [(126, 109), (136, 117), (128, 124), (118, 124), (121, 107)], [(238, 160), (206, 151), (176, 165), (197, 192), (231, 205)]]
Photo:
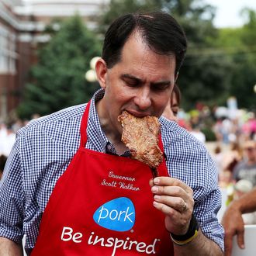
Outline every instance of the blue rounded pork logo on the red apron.
[(93, 215), (93, 220), (108, 230), (127, 231), (135, 222), (133, 202), (126, 197), (119, 197), (100, 206)]

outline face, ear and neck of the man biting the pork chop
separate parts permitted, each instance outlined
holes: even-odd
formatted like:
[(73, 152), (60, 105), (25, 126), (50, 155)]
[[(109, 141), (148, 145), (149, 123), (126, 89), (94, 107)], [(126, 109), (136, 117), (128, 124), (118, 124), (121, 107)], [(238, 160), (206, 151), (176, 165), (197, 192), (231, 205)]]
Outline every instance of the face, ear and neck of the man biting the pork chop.
[(121, 133), (117, 116), (123, 110), (138, 117), (161, 116), (175, 83), (174, 56), (155, 54), (135, 33), (125, 43), (119, 63), (107, 69), (100, 62), (96, 71), (106, 93), (97, 109), (100, 118), (108, 117), (109, 128)]

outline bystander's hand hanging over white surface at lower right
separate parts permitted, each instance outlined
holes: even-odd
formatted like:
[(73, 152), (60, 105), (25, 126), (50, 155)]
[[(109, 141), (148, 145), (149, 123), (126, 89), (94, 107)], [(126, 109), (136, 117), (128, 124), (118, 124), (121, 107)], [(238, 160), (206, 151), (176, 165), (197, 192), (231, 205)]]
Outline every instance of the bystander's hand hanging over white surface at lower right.
[(225, 256), (231, 256), (233, 237), (237, 235), (237, 244), (244, 249), (244, 220), (242, 213), (235, 205), (230, 205), (222, 219), (225, 230)]

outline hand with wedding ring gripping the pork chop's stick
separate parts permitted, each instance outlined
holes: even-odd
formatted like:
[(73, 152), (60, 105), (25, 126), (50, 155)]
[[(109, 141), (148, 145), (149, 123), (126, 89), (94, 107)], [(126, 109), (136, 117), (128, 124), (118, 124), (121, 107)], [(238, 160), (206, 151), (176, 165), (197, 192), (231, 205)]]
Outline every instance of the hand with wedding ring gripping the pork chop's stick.
[(177, 178), (170, 177), (154, 178), (150, 185), (154, 207), (166, 216), (166, 229), (175, 235), (186, 234), (194, 209), (192, 189)]

